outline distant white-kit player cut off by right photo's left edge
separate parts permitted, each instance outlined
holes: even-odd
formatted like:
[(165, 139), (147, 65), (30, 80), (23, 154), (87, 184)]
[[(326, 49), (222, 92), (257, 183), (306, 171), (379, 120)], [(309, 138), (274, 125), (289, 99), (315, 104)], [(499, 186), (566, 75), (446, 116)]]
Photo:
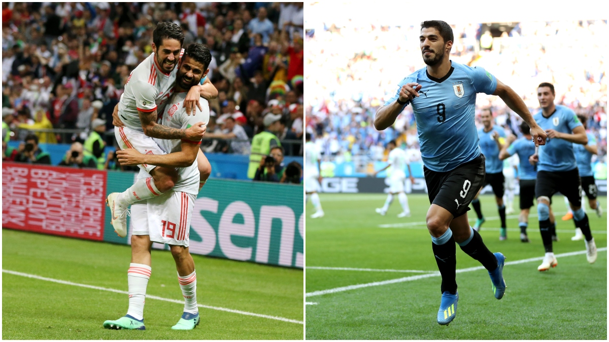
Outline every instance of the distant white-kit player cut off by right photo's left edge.
[(311, 141), (311, 133), (305, 134), (305, 193), (306, 200), (311, 198), (311, 202), (315, 207), (315, 213), (311, 215), (311, 218), (323, 217), (322, 203), (319, 201), (319, 195), (317, 192), (321, 186), (319, 183), (322, 181), (320, 176), (320, 159), (322, 159), (321, 153), (317, 149), (317, 146)]

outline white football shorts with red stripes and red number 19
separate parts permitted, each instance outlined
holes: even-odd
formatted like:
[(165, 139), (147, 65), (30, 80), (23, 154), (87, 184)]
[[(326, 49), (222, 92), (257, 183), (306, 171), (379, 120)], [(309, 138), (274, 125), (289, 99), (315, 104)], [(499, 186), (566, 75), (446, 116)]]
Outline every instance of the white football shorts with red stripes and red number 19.
[(132, 204), (132, 235), (149, 235), (152, 242), (188, 247), (195, 199), (186, 192), (168, 191), (146, 203)]

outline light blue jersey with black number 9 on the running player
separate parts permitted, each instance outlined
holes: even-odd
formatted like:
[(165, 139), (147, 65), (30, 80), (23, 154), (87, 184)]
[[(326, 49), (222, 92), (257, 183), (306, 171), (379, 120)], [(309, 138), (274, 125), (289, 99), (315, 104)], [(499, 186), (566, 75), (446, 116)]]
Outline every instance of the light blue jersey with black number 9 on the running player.
[(421, 85), (419, 97), (403, 108), (412, 105), (423, 164), (430, 170), (446, 172), (477, 158), (481, 152), (474, 123), (476, 94), (493, 94), (497, 79), (483, 68), (454, 61), (442, 79), (432, 77), (427, 68), (422, 68), (398, 83), (385, 106), (400, 97), (403, 85), (412, 82)]

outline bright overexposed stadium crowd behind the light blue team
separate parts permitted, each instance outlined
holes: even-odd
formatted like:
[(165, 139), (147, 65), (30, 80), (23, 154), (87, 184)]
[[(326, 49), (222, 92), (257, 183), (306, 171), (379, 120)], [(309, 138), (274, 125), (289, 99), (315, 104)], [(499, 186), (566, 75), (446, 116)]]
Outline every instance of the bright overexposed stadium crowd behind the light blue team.
[[(306, 36), (309, 85), (306, 131), (314, 133), (325, 159), (337, 162), (356, 156), (386, 158), (392, 139), (406, 147), (411, 161), (420, 161), (412, 108), (393, 127), (377, 131), (376, 110), (389, 99), (403, 77), (423, 68), (415, 26), (362, 26), (351, 21), (324, 24)], [(607, 21), (518, 23), (493, 38), (481, 24), (452, 26), (455, 41), (451, 60), (482, 66), (523, 96), (532, 113), (538, 110), (537, 86), (554, 83), (557, 103), (588, 117), (597, 137), (599, 159), (607, 155), (607, 77), (603, 49)], [(497, 96), (478, 94), (479, 111), (492, 108), (497, 125), (521, 136), (521, 119)], [(333, 157), (336, 156), (336, 157)]]

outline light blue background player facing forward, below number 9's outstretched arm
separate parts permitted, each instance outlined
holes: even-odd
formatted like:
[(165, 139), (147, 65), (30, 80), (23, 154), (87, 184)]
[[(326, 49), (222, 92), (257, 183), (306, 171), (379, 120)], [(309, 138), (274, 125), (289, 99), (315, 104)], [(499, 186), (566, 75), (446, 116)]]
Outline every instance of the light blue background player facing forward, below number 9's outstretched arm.
[[(480, 138), (480, 148), (482, 150), (482, 154), (487, 159), (485, 163), (486, 175), (484, 176), (484, 182), (482, 183), (480, 191), (482, 191), (482, 188), (487, 186), (487, 184), (491, 184), (493, 193), (495, 194), (495, 201), (497, 202), (499, 218), (501, 218), (499, 240), (505, 240), (507, 239), (507, 228), (505, 226), (505, 204), (503, 203), (505, 176), (503, 175), (503, 162), (499, 160), (499, 151), (501, 151), (501, 148), (505, 143), (505, 133), (503, 128), (495, 127), (495, 125), (493, 125), (493, 112), (490, 108), (485, 108), (482, 110), (480, 117), (484, 127), (478, 130), (478, 136)], [(478, 215), (478, 219), (473, 227), (476, 231), (480, 231), (480, 226), (485, 221), (484, 215), (482, 215), (482, 209), (480, 208), (480, 200), (478, 200), (480, 191), (476, 194), (474, 200), (471, 201), (471, 205), (474, 207), (474, 210)]]

